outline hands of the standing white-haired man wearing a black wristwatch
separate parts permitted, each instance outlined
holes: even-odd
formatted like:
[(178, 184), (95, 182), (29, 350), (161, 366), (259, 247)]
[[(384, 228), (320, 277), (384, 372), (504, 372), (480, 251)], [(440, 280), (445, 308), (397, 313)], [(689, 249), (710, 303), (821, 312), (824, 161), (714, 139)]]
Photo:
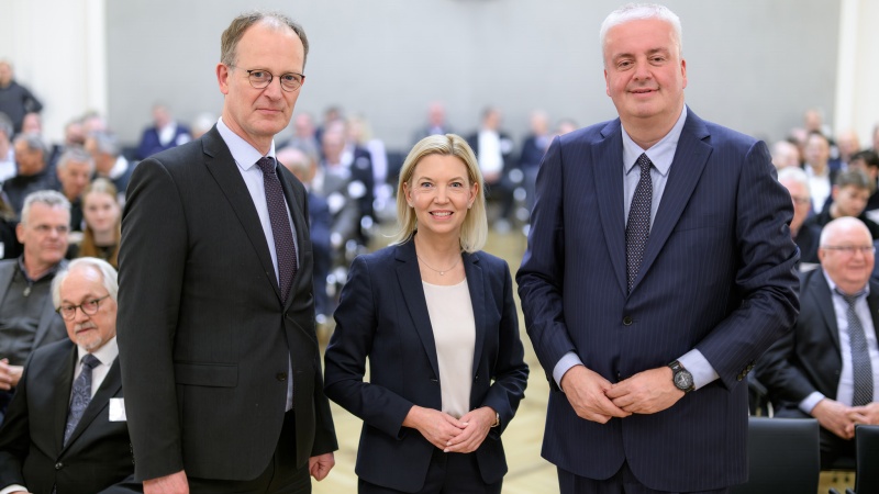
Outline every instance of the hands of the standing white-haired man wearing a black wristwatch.
[(671, 381), (671, 369), (660, 367), (612, 383), (585, 366), (575, 366), (561, 377), (561, 389), (577, 416), (605, 424), (612, 417), (655, 414), (683, 397)]

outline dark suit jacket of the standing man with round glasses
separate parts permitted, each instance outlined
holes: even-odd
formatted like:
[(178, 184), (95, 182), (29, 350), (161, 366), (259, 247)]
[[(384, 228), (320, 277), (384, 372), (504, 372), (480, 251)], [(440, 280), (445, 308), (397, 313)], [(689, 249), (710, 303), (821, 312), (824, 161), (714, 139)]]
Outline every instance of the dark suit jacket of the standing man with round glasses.
[(256, 478), (280, 436), (288, 379), (296, 465), (336, 449), (314, 332), (305, 191), (279, 169), (299, 247), (286, 301), (215, 127), (134, 170), (122, 218), (119, 348), (138, 480), (183, 469)]

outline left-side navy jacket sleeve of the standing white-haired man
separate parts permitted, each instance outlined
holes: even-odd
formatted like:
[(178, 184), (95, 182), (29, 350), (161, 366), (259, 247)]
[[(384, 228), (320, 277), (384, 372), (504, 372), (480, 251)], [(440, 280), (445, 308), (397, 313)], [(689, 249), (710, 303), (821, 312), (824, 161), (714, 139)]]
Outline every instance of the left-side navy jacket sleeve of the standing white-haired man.
[(567, 352), (577, 351), (568, 335), (561, 301), (565, 282), (561, 166), (561, 146), (556, 137), (537, 172), (528, 247), (516, 273), (525, 328), (552, 386), (556, 385), (553, 380), (556, 363)]

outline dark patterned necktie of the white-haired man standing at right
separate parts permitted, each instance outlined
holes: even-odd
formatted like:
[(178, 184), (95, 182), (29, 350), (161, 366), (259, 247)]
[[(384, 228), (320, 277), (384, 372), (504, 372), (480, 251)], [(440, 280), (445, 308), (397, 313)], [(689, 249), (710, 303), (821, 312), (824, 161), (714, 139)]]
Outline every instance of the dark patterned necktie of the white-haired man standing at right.
[(637, 165), (641, 167), (641, 178), (632, 197), (632, 206), (628, 209), (628, 221), (625, 224), (625, 270), (628, 281), (628, 291), (635, 284), (635, 278), (644, 260), (644, 250), (647, 248), (647, 238), (650, 236), (650, 207), (653, 205), (653, 180), (650, 167), (653, 162), (646, 154), (638, 156)]

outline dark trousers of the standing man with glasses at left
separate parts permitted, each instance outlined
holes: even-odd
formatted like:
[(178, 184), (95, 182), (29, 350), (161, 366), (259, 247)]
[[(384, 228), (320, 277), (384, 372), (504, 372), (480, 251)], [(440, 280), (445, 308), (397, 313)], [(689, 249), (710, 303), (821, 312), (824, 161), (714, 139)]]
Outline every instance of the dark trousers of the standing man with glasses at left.
[(266, 470), (252, 481), (189, 479), (189, 492), (211, 494), (310, 494), (308, 462), (296, 467), (296, 414), (287, 412), (283, 427)]

